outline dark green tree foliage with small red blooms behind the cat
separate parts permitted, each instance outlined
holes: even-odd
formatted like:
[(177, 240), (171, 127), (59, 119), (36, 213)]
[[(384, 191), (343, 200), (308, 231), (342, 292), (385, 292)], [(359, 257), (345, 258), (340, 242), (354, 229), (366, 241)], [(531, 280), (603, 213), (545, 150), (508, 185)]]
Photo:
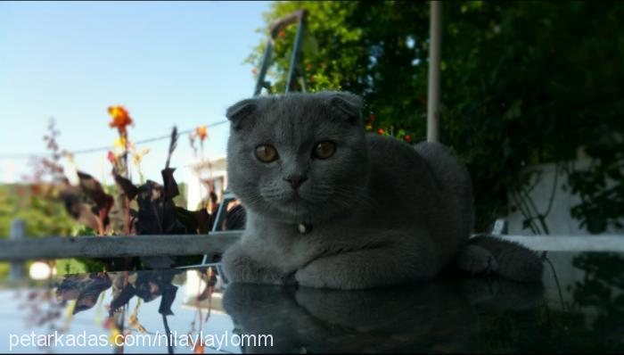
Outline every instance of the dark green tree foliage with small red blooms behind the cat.
[[(307, 9), (303, 67), (311, 91), (365, 98), (366, 128), (423, 140), (426, 132), (429, 4), (275, 2), (275, 19)], [(477, 229), (505, 214), (525, 167), (569, 161), (579, 148), (589, 172), (567, 169), (583, 200), (573, 216), (591, 232), (624, 215), (624, 4), (444, 2), (440, 137), (472, 174)], [(269, 76), (283, 92), (295, 26), (275, 41)], [(265, 44), (248, 62), (259, 68)], [(380, 128), (382, 131), (380, 131)], [(607, 184), (607, 180), (611, 183)]]

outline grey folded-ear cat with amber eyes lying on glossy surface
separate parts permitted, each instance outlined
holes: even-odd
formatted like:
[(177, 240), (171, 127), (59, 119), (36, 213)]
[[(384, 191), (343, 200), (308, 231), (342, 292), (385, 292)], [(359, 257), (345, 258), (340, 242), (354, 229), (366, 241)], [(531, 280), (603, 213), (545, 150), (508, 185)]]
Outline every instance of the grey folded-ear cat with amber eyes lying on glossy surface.
[(271, 95), (227, 110), (229, 187), (247, 210), (223, 255), (232, 282), (338, 289), (472, 274), (538, 281), (536, 254), (470, 239), (472, 184), (441, 144), (365, 134), (362, 100), (341, 92)]

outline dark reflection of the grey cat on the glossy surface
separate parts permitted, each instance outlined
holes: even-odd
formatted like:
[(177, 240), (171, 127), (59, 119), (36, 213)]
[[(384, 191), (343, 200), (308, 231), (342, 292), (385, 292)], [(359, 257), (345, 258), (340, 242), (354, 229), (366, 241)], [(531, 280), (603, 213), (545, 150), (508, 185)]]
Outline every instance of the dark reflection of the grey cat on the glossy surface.
[(224, 307), (241, 334), (271, 334), (244, 352), (462, 352), (478, 350), (477, 309), (526, 310), (541, 284), (438, 280), (365, 291), (231, 284)]

